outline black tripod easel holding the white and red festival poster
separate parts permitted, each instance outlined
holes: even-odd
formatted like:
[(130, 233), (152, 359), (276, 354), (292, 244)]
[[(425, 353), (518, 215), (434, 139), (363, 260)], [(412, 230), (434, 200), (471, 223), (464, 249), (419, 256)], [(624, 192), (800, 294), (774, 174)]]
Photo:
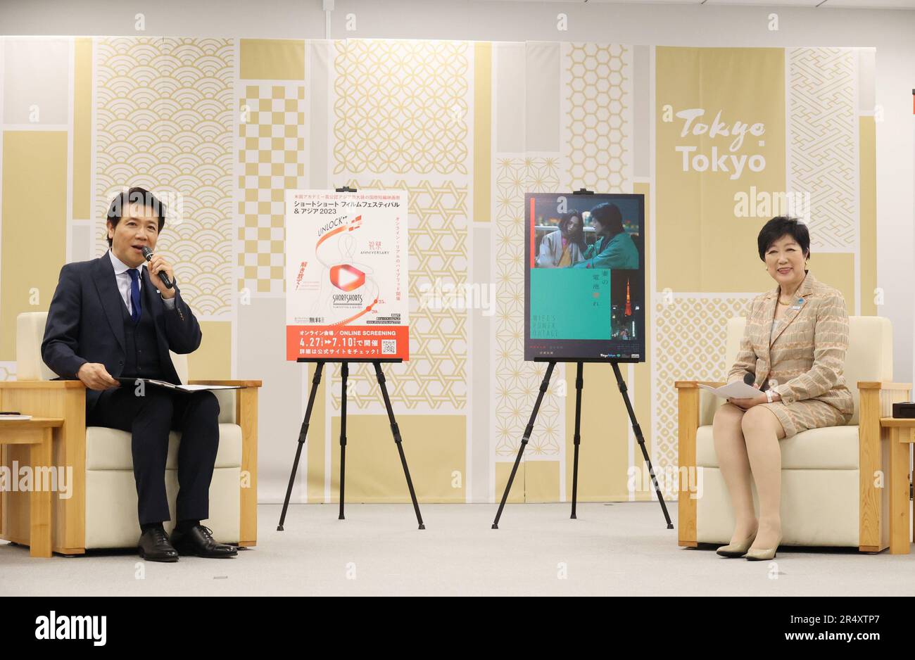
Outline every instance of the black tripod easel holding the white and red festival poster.
[[(343, 186), (336, 189), (339, 193), (354, 193), (356, 192), (355, 188), (350, 186)], [(382, 389), (382, 398), (384, 399), (384, 408), (388, 411), (388, 420), (391, 421), (391, 432), (393, 433), (394, 443), (397, 445), (397, 452), (400, 454), (401, 464), (404, 466), (404, 476), (406, 476), (406, 485), (410, 489), (410, 499), (413, 500), (413, 508), (416, 512), (416, 522), (419, 523), (420, 529), (425, 529), (425, 524), (423, 523), (423, 516), (419, 512), (419, 503), (416, 501), (416, 492), (413, 487), (413, 480), (410, 478), (410, 468), (406, 464), (406, 456), (404, 455), (404, 447), (401, 446), (401, 434), (400, 427), (397, 425), (397, 420), (394, 419), (394, 411), (391, 407), (391, 397), (388, 396), (388, 389), (385, 385), (384, 372), (382, 371), (382, 362), (403, 362), (401, 359), (353, 359), (353, 360), (322, 360), (318, 358), (307, 358), (299, 357), (296, 362), (316, 362), (317, 367), (315, 367), (315, 376), (311, 379), (311, 394), (308, 397), (308, 405), (305, 410), (305, 419), (302, 420), (302, 427), (298, 431), (298, 446), (296, 447), (296, 460), (292, 465), (292, 473), (289, 474), (289, 485), (286, 486), (286, 496), (283, 502), (283, 513), (280, 515), (279, 525), (276, 527), (276, 531), (283, 531), (283, 524), (285, 523), (286, 509), (289, 508), (289, 498), (292, 496), (292, 486), (296, 482), (296, 472), (298, 471), (298, 463), (302, 456), (302, 447), (305, 445), (306, 437), (308, 434), (308, 425), (311, 420), (311, 410), (315, 405), (315, 397), (318, 396), (318, 385), (321, 382), (321, 371), (324, 368), (324, 365), (328, 362), (339, 362), (341, 363), (341, 377), (342, 377), (342, 389), (341, 389), (341, 402), (340, 402), (340, 512), (339, 520), (343, 520), (343, 504), (344, 504), (344, 493), (346, 487), (346, 382), (347, 378), (350, 376), (350, 362), (355, 363), (367, 363), (371, 362), (375, 366), (375, 378), (378, 379), (378, 385)]]

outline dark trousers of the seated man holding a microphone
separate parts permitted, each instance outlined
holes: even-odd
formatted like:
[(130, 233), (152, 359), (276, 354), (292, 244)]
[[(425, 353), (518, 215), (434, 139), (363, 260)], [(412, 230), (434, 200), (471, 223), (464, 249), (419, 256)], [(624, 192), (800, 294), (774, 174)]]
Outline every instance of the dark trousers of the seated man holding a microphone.
[(210, 517), (210, 480), (219, 449), (220, 404), (210, 391), (193, 394), (148, 386), (144, 396), (123, 385), (106, 389), (86, 415), (87, 426), (132, 434), (140, 525), (164, 522), (168, 513), (168, 431), (181, 431), (178, 445), (178, 520)]

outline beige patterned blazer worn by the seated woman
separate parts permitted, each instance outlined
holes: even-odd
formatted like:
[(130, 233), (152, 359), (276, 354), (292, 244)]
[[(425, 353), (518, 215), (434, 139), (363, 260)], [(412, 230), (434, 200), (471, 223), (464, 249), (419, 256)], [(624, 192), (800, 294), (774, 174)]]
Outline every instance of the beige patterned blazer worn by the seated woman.
[(852, 394), (845, 387), (845, 352), (848, 350), (848, 313), (845, 297), (819, 282), (807, 271), (780, 327), (771, 335), (780, 286), (753, 299), (740, 340), (737, 360), (727, 382), (751, 373), (762, 387), (774, 379), (772, 391), (791, 404), (818, 399), (844, 415), (854, 411)]

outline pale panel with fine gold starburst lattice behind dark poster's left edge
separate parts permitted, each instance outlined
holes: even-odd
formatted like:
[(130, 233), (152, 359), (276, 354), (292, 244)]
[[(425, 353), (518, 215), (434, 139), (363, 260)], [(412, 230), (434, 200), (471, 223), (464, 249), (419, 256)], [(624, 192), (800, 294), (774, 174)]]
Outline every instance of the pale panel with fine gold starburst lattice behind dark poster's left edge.
[[(495, 439), (496, 456), (518, 452), (524, 428), (544, 379), (543, 362), (524, 357), (524, 193), (559, 188), (559, 158), (501, 156), (496, 159)], [(528, 454), (557, 456), (565, 441), (565, 401), (556, 394), (563, 378), (557, 365), (544, 394)]]

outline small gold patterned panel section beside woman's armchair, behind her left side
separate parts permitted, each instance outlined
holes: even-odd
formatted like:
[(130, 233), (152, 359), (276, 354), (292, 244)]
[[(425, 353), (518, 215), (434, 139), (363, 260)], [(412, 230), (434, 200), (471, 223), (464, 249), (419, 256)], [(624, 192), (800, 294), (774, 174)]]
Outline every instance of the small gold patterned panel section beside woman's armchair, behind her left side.
[[(725, 380), (727, 319), (746, 316), (752, 296), (701, 298), (675, 296), (654, 305), (651, 346), (654, 372), (655, 470), (677, 465), (677, 393), (675, 380)], [(675, 493), (670, 495), (676, 496)], [(666, 494), (665, 494), (666, 496)]]

